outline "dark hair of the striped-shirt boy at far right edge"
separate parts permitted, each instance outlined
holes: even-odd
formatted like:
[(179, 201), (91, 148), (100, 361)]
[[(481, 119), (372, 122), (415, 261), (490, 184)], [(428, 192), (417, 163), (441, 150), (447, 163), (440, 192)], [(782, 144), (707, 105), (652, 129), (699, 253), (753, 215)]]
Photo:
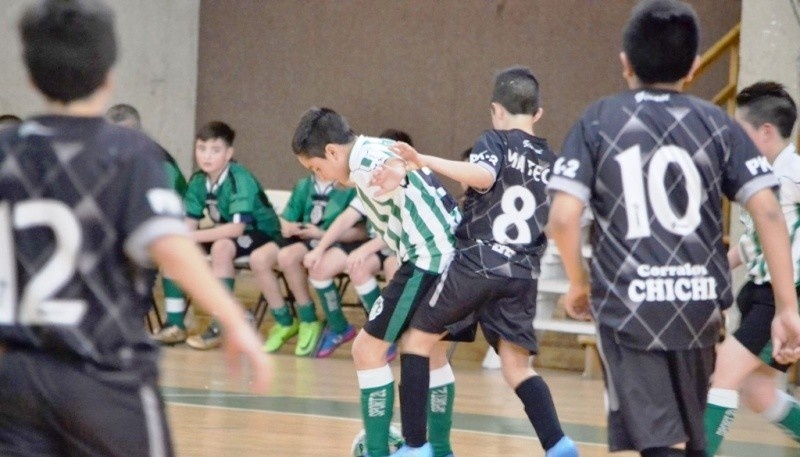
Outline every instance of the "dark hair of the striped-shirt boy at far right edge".
[(797, 120), (797, 105), (782, 84), (759, 81), (745, 87), (736, 96), (736, 107), (747, 123), (758, 128), (772, 124), (781, 137), (789, 138)]

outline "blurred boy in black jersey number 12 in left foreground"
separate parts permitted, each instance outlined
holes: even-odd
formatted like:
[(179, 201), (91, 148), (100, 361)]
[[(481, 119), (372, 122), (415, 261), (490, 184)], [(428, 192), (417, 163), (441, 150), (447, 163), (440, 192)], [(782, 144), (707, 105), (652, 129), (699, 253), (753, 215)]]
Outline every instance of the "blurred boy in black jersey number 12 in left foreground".
[(267, 359), (186, 237), (159, 147), (102, 117), (112, 12), (45, 0), (19, 29), (49, 114), (0, 133), (0, 455), (172, 455), (142, 325), (150, 259), (229, 330), (230, 360), (247, 357), (256, 390)]

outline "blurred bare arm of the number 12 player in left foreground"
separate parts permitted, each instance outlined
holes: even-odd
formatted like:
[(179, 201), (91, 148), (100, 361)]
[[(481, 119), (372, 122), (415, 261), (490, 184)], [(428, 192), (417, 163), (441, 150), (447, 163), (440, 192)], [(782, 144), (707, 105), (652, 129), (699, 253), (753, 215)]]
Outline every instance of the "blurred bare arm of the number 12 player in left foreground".
[(205, 256), (186, 236), (169, 235), (150, 244), (150, 255), (188, 295), (222, 325), (223, 347), (228, 366), (234, 375), (241, 371), (241, 356), (249, 362), (251, 388), (265, 392), (269, 388), (271, 362), (261, 352), (261, 342), (244, 316), (244, 310), (222, 283), (214, 277)]

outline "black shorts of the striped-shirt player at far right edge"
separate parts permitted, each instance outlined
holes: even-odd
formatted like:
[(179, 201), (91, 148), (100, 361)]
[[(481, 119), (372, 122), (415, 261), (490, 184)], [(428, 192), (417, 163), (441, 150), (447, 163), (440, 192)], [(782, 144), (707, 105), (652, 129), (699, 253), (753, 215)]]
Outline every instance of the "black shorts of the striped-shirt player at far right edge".
[[(800, 288), (797, 291), (800, 292)], [(772, 358), (772, 319), (775, 318), (772, 285), (745, 283), (736, 296), (736, 305), (742, 318), (733, 337), (764, 363), (785, 373), (791, 365), (778, 363)]]

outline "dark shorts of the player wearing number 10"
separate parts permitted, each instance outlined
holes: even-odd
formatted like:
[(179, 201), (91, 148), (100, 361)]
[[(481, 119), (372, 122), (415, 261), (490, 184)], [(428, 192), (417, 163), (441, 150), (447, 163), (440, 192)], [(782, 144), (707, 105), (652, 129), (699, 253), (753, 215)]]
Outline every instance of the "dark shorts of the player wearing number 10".
[(605, 370), (608, 447), (641, 451), (689, 442), (705, 449), (703, 414), (714, 370), (714, 346), (685, 351), (645, 351), (619, 344), (598, 326), (597, 349)]

